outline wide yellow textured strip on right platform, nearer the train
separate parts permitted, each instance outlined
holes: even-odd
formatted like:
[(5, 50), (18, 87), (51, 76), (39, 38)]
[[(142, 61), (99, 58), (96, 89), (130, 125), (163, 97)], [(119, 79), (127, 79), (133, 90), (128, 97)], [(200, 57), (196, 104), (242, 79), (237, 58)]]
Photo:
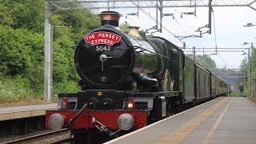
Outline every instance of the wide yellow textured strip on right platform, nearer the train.
[(191, 134), (198, 126), (202, 124), (209, 118), (211, 114), (214, 113), (215, 110), (218, 110), (219, 106), (222, 106), (224, 102), (226, 102), (228, 98), (223, 98), (220, 102), (214, 104), (209, 109), (204, 110), (201, 114), (198, 114), (196, 117), (191, 119), (190, 121), (182, 124), (182, 126), (178, 127), (174, 131), (166, 134), (163, 138), (159, 141), (154, 142), (156, 144), (164, 144), (164, 143), (180, 143), (182, 142), (189, 134)]

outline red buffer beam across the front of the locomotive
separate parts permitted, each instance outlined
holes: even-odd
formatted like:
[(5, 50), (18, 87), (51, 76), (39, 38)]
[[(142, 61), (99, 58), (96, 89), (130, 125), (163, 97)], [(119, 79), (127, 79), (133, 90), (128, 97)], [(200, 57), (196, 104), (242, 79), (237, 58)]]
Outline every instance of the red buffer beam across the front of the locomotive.
[[(55, 122), (58, 128), (70, 129), (90, 129), (94, 126), (94, 119), (101, 122), (106, 128), (119, 130), (118, 118), (122, 114), (130, 114), (133, 118), (132, 130), (138, 130), (146, 126), (147, 113), (145, 110), (84, 110), (82, 114), (70, 124), (70, 120), (78, 114), (78, 110), (47, 110), (46, 111), (46, 128), (53, 128), (51, 122)], [(54, 117), (54, 118), (50, 118)], [(58, 129), (56, 128), (56, 129)]]

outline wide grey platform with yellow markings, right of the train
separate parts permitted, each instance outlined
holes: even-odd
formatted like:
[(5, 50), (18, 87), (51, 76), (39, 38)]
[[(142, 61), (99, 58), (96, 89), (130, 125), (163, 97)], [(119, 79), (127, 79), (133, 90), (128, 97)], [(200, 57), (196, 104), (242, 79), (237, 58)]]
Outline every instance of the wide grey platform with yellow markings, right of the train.
[(244, 97), (215, 98), (109, 143), (256, 143), (256, 106)]

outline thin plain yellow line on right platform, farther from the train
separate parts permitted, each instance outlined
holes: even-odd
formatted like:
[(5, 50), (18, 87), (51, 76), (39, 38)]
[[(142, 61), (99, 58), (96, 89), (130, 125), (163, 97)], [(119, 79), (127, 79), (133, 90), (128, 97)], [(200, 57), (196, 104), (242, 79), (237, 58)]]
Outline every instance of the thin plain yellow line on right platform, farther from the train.
[(206, 135), (206, 138), (202, 141), (202, 143), (208, 143), (210, 141), (210, 138), (213, 136), (214, 131), (218, 128), (218, 124), (221, 122), (224, 114), (226, 114), (226, 110), (230, 107), (230, 103), (232, 102), (233, 98), (230, 100), (230, 102), (227, 104), (225, 110), (222, 111), (222, 114), (218, 116), (217, 121), (214, 123), (214, 126), (210, 129), (209, 133)]

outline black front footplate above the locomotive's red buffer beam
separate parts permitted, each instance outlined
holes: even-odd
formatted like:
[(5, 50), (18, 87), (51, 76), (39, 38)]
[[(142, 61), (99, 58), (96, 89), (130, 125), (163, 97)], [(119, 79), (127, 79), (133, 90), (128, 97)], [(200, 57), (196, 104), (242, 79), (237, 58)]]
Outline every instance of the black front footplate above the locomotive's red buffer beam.
[[(82, 90), (75, 94), (58, 94), (58, 108), (61, 108), (62, 98), (68, 98), (70, 110), (81, 109), (88, 103), (89, 110), (122, 110), (127, 98), (133, 97), (138, 110), (152, 110), (154, 98), (177, 97), (181, 91), (165, 91), (154, 93), (140, 93), (118, 90)], [(107, 104), (107, 105), (104, 105)]]

